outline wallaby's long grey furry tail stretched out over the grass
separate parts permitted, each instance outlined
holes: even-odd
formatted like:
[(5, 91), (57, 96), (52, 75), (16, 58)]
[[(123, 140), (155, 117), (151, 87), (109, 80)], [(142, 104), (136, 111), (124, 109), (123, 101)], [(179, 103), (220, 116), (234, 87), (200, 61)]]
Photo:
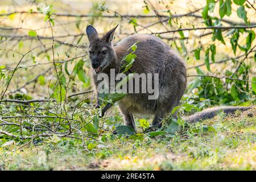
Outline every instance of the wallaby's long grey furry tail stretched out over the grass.
[(198, 113), (189, 115), (187, 117), (184, 117), (184, 121), (186, 122), (197, 122), (200, 120), (204, 120), (204, 119), (210, 119), (213, 118), (215, 115), (218, 114), (219, 111), (223, 111), (225, 114), (232, 114), (234, 113), (236, 110), (248, 110), (250, 109), (252, 106), (249, 107), (241, 107), (241, 106), (220, 106), (220, 107), (212, 107), (209, 109), (205, 109), (203, 111), (200, 111)]

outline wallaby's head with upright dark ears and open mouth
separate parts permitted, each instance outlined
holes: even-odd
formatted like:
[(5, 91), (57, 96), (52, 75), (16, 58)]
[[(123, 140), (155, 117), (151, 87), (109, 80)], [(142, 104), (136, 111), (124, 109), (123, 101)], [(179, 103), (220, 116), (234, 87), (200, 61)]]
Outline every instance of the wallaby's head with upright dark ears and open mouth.
[[(118, 25), (117, 25), (118, 26)], [(114, 27), (101, 38), (98, 36), (96, 29), (93, 26), (86, 28), (86, 34), (89, 39), (89, 57), (92, 62), (92, 68), (98, 74), (103, 71), (112, 61), (114, 61), (115, 51), (111, 41), (114, 36)]]

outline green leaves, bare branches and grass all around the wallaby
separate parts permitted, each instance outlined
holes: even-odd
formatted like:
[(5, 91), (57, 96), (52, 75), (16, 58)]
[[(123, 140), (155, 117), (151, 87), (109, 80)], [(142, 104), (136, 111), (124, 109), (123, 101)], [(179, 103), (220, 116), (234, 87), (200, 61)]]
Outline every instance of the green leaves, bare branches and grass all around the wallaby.
[[(181, 119), (214, 105), (255, 105), (253, 1), (19, 3), (0, 3), (0, 170), (256, 169), (254, 106), (200, 123)], [(121, 94), (102, 96), (115, 102), (104, 117), (94, 108), (85, 27), (103, 34), (117, 23), (115, 42), (153, 34), (186, 60), (179, 119), (167, 117), (158, 131), (147, 132), (150, 116), (136, 117), (137, 134), (123, 126)], [(136, 48), (123, 58), (126, 71)]]

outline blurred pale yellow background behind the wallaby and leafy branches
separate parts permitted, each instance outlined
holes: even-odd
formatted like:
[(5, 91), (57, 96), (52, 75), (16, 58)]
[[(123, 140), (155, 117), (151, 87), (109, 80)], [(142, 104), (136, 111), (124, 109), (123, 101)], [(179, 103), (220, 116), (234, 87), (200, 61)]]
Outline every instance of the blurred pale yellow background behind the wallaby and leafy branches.
[[(16, 69), (7, 88), (6, 96), (22, 92), (35, 98), (49, 97), (52, 90), (49, 90), (48, 86), (52, 88), (51, 83), (53, 84), (56, 81), (56, 77), (53, 76), (52, 35), (54, 36), (55, 61), (59, 61), (59, 64), (67, 68), (65, 71), (68, 70), (71, 73), (80, 59), (85, 63), (83, 69), (86, 73), (86, 81), (73, 80), (72, 86), (69, 87), (71, 92), (90, 89), (88, 73), (90, 63), (86, 48), (88, 39), (85, 34), (85, 28), (88, 24), (93, 24), (99, 34), (103, 34), (119, 24), (114, 42), (118, 42), (127, 35), (137, 33), (159, 36), (183, 56), (187, 63), (188, 75), (196, 75), (199, 71), (195, 67), (200, 65), (199, 68), (204, 72), (204, 75), (230, 76), (232, 71), (236, 71), (239, 61), (243, 59), (242, 55), (245, 56), (244, 51), (238, 48), (236, 55), (234, 55), (230, 44), (234, 29), (222, 30), (224, 42), (220, 40), (213, 41), (214, 33), (212, 29), (193, 30), (195, 27), (205, 27), (202, 12), (207, 2), (167, 0), (1, 1), (0, 63), (5, 66), (5, 69), (2, 69), (0, 92), (4, 92), (3, 85), (6, 86), (6, 82), (9, 81), (8, 79), (15, 66), (19, 63), (21, 57), (29, 51), (20, 61), (18, 69)], [(254, 1), (248, 2), (245, 6), (247, 19), (250, 26), (255, 26), (256, 10), (250, 6), (254, 4)], [(209, 15), (221, 19), (220, 22), (216, 23), (217, 26), (220, 24), (222, 26), (245, 26), (246, 23), (236, 13), (238, 7), (238, 5), (232, 3), (232, 14), (220, 18), (219, 5), (216, 1), (216, 5), (213, 7), (214, 9), (209, 11)], [(51, 25), (46, 18), (47, 13), (52, 14)], [(177, 31), (178, 28), (190, 28), (190, 30)], [(252, 30), (254, 31), (255, 28)], [(247, 36), (246, 33), (240, 34), (239, 44), (246, 44)], [(211, 44), (216, 46), (214, 62), (217, 63), (212, 64), (213, 61), (209, 61), (209, 59), (210, 69), (207, 69), (205, 65), (205, 63), (207, 64), (205, 60), (207, 54), (205, 51)], [(251, 47), (254, 45), (255, 41), (251, 43)], [(39, 47), (35, 48), (36, 46)], [(197, 59), (195, 57), (196, 52), (200, 55)], [(250, 65), (249, 74), (245, 77), (238, 75), (237, 78), (250, 80), (250, 77), (255, 75), (253, 52), (254, 50), (247, 56), (249, 59), (244, 60), (246, 65)], [(61, 65), (59, 66), (61, 67)], [(64, 68), (61, 69), (64, 72)], [(230, 71), (230, 73), (227, 73), (227, 71)], [(64, 72), (64, 74), (66, 73)], [(194, 76), (188, 77), (188, 83), (195, 79)], [(198, 79), (202, 80), (203, 77), (197, 78), (197, 81)], [(36, 84), (38, 82), (39, 84)], [(225, 79), (222, 79), (222, 82), (225, 82)], [(246, 87), (246, 84), (244, 86)], [(198, 91), (197, 87), (199, 85), (189, 89), (189, 92), (196, 93)], [(231, 87), (232, 84), (226, 85), (226, 91), (229, 92)], [(239, 94), (241, 88), (236, 90), (235, 94)], [(242, 94), (243, 91), (246, 90), (242, 90)], [(218, 94), (217, 92), (215, 94)], [(221, 95), (221, 93), (219, 94)], [(208, 96), (204, 98), (206, 97)], [(239, 100), (245, 101), (245, 98)]]

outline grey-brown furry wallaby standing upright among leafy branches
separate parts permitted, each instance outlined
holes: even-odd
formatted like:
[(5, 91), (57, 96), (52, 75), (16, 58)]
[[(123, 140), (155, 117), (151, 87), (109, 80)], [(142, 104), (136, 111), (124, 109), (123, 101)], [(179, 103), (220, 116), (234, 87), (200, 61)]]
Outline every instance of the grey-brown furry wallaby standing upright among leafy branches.
[[(179, 104), (185, 92), (187, 84), (185, 63), (168, 44), (152, 35), (129, 35), (113, 46), (112, 40), (116, 28), (117, 26), (101, 38), (93, 26), (86, 28), (86, 34), (89, 39), (89, 57), (93, 68), (93, 82), (97, 86), (97, 75), (99, 73), (109, 75), (110, 69), (115, 69), (115, 73), (118, 73), (123, 57), (129, 53), (128, 49), (134, 43), (137, 43), (137, 49), (134, 52), (137, 58), (129, 69), (129, 73), (158, 73), (159, 96), (155, 100), (148, 100), (148, 93), (129, 93), (118, 102), (118, 106), (124, 115), (125, 124), (132, 127), (135, 131), (137, 131), (133, 117), (135, 113), (154, 115), (152, 127), (161, 127), (162, 119), (167, 114), (170, 114), (174, 107)], [(97, 97), (96, 107), (99, 107), (99, 105), (100, 102)], [(102, 109), (102, 114), (110, 106), (110, 104), (105, 106)], [(232, 113), (238, 109), (246, 110), (248, 108), (233, 106), (214, 107), (213, 109), (201, 111), (184, 119), (188, 122), (196, 122), (200, 119), (214, 117), (219, 110), (223, 110), (224, 113)], [(174, 114), (174, 117), (176, 117), (176, 114)]]

